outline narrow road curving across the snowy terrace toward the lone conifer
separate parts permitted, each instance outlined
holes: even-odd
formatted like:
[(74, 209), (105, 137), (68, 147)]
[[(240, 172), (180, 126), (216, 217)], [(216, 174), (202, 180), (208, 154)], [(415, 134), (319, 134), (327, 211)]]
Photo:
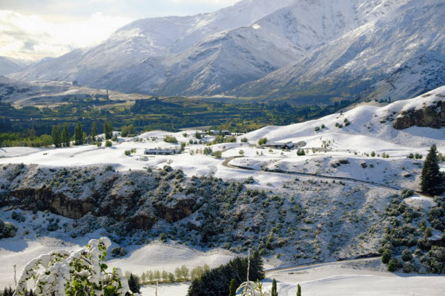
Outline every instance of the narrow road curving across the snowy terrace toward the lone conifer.
[[(299, 176), (299, 177), (303, 177), (303, 178), (312, 178), (312, 179), (318, 179), (318, 180), (335, 180), (335, 181), (342, 181), (342, 182), (348, 182), (348, 183), (355, 183), (355, 184), (360, 184), (360, 185), (366, 185), (366, 186), (370, 186), (370, 187), (374, 187), (374, 188), (380, 188), (380, 189), (387, 189), (387, 190), (401, 190), (401, 188), (399, 187), (391, 187), (388, 185), (383, 185), (383, 184), (378, 184), (378, 183), (373, 183), (373, 182), (368, 182), (368, 181), (364, 181), (364, 180), (357, 180), (357, 179), (353, 179), (353, 178), (343, 178), (343, 177), (335, 177), (335, 176), (323, 176), (323, 175), (316, 175), (316, 174), (307, 174), (307, 173), (294, 173), (294, 172), (277, 172), (277, 171), (259, 171), (259, 170), (253, 170), (247, 167), (239, 167), (236, 165), (231, 165), (230, 161), (232, 161), (233, 159), (236, 158), (240, 158), (240, 157), (228, 157), (227, 159), (225, 159), (225, 161), (223, 161), (222, 165), (223, 167), (228, 167), (230, 169), (233, 170), (244, 170), (244, 171), (254, 171), (254, 172), (267, 172), (268, 174), (278, 174), (281, 176)], [(416, 194), (418, 194), (419, 196), (423, 196), (425, 198), (431, 198), (431, 196), (425, 196), (424, 194), (415, 191)]]

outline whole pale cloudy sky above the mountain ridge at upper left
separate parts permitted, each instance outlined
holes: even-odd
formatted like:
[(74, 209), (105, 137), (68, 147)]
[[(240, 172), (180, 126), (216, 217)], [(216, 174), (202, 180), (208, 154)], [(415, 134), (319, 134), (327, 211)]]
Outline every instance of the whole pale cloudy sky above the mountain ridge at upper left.
[(0, 0), (0, 56), (36, 61), (94, 46), (139, 18), (212, 12), (239, 0)]

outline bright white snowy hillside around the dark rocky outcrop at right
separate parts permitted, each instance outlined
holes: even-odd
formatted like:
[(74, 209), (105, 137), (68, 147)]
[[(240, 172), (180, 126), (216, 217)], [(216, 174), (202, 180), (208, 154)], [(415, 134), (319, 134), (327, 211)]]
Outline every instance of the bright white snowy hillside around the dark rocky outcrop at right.
[[(370, 153), (378, 147), (382, 152), (401, 150), (396, 146), (387, 146), (383, 142), (420, 148), (436, 144), (445, 148), (444, 128), (432, 129), (429, 127), (412, 126), (408, 129), (396, 130), (392, 126), (392, 120), (401, 111), (409, 109), (421, 109), (425, 105), (443, 100), (445, 86), (437, 88), (416, 98), (399, 100), (385, 107), (361, 106), (341, 114), (332, 114), (318, 120), (291, 124), (288, 126), (266, 126), (263, 129), (246, 134), (251, 142), (257, 142), (261, 137), (267, 137), (269, 142), (294, 143), (318, 141), (320, 147), (322, 139), (334, 139), (336, 150), (361, 150)], [(335, 124), (344, 124), (347, 119), (349, 126), (339, 129)], [(325, 124), (326, 128), (316, 132), (316, 126)], [(309, 145), (309, 144), (308, 144)], [(377, 150), (376, 150), (377, 151)]]

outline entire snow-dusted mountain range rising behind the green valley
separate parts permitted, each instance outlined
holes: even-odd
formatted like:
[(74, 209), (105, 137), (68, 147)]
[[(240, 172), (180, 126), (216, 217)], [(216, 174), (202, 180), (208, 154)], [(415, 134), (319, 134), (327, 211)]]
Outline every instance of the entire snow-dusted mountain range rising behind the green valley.
[[(10, 77), (153, 95), (351, 98), (422, 53), (442, 54), (443, 3), (407, 2), (245, 0), (209, 14), (147, 18)], [(434, 86), (419, 83), (410, 88)]]

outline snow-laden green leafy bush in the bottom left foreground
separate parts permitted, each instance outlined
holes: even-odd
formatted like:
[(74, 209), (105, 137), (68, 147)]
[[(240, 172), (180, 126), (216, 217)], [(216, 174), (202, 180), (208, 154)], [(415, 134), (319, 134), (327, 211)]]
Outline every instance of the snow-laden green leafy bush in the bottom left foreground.
[(29, 280), (36, 295), (125, 295), (129, 286), (122, 271), (106, 271), (110, 245), (110, 239), (103, 237), (90, 240), (77, 252), (58, 250), (34, 258), (23, 268), (16, 295), (25, 295)]

